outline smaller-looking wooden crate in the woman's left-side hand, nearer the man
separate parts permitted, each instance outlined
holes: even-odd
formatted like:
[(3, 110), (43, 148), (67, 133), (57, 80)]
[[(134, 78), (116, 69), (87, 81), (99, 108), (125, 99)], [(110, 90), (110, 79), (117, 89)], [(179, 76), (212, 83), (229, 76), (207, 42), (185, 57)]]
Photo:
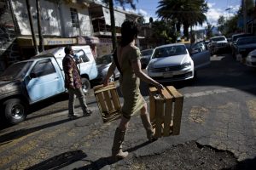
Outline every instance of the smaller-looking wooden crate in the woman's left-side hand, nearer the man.
[(106, 87), (98, 85), (93, 89), (103, 122), (111, 122), (118, 119), (121, 116), (121, 106), (115, 83), (109, 82)]

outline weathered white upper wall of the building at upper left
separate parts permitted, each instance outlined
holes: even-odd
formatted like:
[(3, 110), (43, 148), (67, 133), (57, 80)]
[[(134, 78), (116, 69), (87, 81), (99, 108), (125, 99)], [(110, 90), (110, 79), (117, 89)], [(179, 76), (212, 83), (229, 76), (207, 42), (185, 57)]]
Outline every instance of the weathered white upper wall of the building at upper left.
[[(12, 0), (15, 17), (20, 27), (21, 35), (31, 35), (31, 29), (26, 9), (26, 0)], [(36, 1), (32, 0), (31, 11), (33, 27), (38, 34), (38, 20), (36, 14)], [(70, 5), (61, 3), (60, 8), (56, 3), (49, 1), (40, 1), (41, 6), (41, 25), (44, 36), (76, 37), (92, 36), (93, 28), (91, 26), (88, 8), (81, 8), (80, 5)], [(79, 13), (80, 28), (73, 28), (70, 8), (77, 8)]]

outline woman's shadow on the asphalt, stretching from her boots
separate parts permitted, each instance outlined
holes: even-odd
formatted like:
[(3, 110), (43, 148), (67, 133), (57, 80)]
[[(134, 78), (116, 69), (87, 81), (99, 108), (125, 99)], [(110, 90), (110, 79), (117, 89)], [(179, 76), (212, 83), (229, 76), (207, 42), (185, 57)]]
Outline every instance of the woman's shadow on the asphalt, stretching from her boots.
[[(133, 148), (130, 148), (128, 150), (125, 150), (125, 151), (128, 151), (129, 153), (131, 153), (132, 151), (135, 151), (139, 148), (142, 148), (145, 145), (150, 144), (150, 143), (151, 142), (147, 141), (147, 142), (144, 142), (142, 144), (138, 144), (137, 146), (135, 146)], [(118, 161), (120, 161), (120, 160), (114, 160), (112, 156), (101, 157), (100, 159), (91, 162), (90, 165), (86, 165), (84, 167), (79, 167), (79, 168), (75, 168), (75, 169), (76, 170), (87, 170), (87, 169), (98, 170), (98, 169), (101, 169), (102, 167), (105, 167), (107, 165), (112, 165), (113, 163), (116, 163)]]

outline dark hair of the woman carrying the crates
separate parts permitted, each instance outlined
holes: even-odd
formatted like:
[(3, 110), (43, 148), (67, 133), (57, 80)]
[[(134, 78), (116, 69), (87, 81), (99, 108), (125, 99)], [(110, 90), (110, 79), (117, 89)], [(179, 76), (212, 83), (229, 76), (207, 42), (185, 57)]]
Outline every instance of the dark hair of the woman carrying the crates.
[(137, 22), (133, 20), (125, 20), (121, 27), (121, 34), (121, 46), (125, 47), (127, 44), (131, 43), (134, 38), (137, 38)]

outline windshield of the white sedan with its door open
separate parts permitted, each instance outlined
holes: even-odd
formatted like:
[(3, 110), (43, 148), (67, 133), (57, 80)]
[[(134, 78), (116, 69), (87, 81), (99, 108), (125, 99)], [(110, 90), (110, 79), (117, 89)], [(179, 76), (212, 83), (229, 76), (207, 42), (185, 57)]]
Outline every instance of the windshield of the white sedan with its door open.
[(187, 50), (184, 45), (174, 45), (163, 48), (156, 48), (154, 50), (154, 54), (152, 59), (154, 58), (162, 58), (162, 57), (170, 57), (174, 55), (182, 55), (187, 54)]

